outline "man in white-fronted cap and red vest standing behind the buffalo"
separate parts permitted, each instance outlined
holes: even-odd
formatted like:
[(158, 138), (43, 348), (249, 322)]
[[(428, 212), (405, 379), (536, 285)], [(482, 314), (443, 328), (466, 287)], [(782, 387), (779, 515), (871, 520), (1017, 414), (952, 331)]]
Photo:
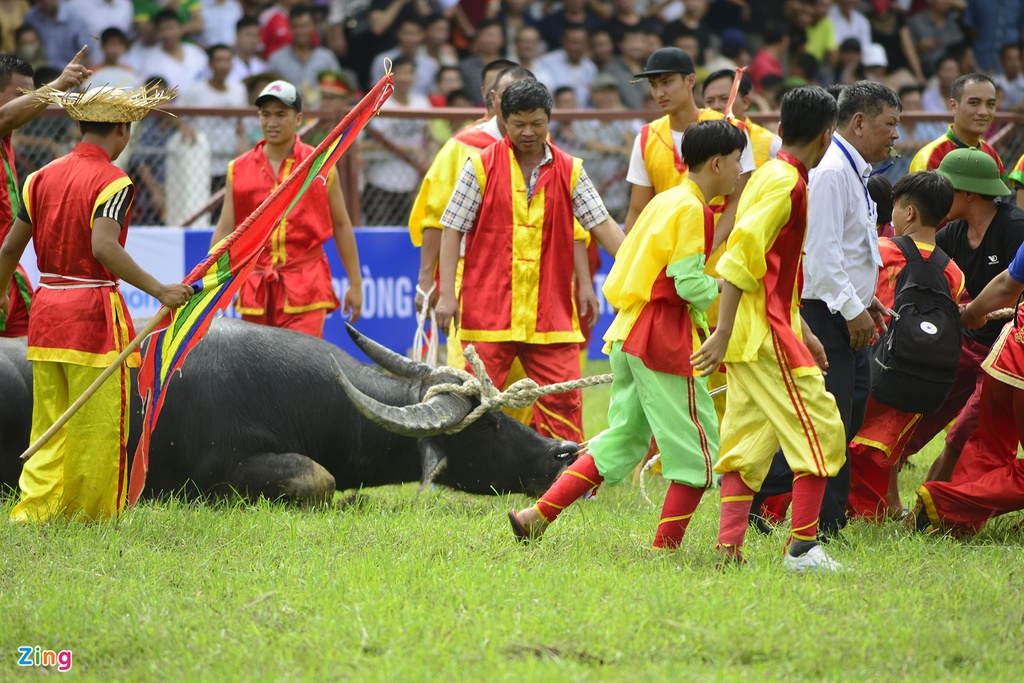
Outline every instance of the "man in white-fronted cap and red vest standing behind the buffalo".
[[(313, 152), (296, 135), (302, 123), (302, 97), (294, 85), (273, 81), (256, 98), (256, 106), (264, 139), (228, 165), (224, 208), (212, 244), (227, 237)], [(332, 237), (349, 281), (342, 310), (353, 323), (359, 319), (359, 254), (333, 168), (326, 185), (309, 186), (259, 255), (234, 302), (243, 319), (323, 337), (327, 314), (341, 305), (324, 253), (324, 243)]]

